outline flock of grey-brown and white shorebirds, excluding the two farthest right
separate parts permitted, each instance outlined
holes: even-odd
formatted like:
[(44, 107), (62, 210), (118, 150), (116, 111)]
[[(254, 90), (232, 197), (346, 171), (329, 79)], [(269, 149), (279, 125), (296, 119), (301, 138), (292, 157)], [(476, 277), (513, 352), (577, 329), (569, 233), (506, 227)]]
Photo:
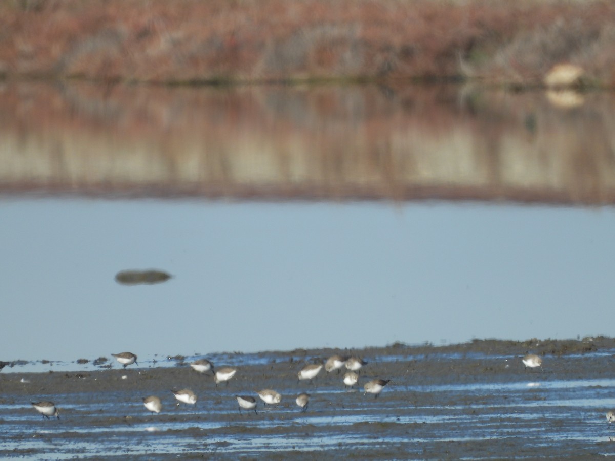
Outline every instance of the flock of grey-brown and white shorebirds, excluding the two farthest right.
[[(137, 363), (137, 355), (132, 352), (121, 352), (117, 354), (111, 354), (116, 360), (126, 368), (133, 363)], [(359, 373), (360, 369), (365, 365), (366, 362), (358, 357), (342, 357), (341, 355), (333, 355), (328, 358), (327, 362), (322, 364), (309, 364), (301, 368), (301, 370), (297, 373), (297, 378), (299, 380), (312, 380), (319, 373), (320, 370), (325, 368), (328, 372), (331, 371), (341, 371), (342, 368), (346, 368), (347, 372), (344, 374), (343, 382), (346, 387), (354, 387), (355, 384), (359, 381)], [(235, 376), (237, 373), (237, 368), (224, 367), (220, 369), (214, 369), (213, 363), (209, 360), (202, 358), (190, 363), (192, 369), (200, 373), (207, 373), (211, 371), (213, 374), (213, 379), (216, 383), (216, 387), (221, 382), (226, 382), (228, 385), (229, 379)], [(367, 382), (363, 388), (365, 389), (365, 394), (371, 393), (374, 395), (374, 398), (377, 398), (378, 395), (382, 392), (384, 386), (390, 379), (372, 379)], [(197, 395), (192, 392), (190, 389), (180, 389), (180, 390), (171, 390), (173, 395), (178, 401), (178, 404), (192, 404), (196, 405)], [(263, 400), (266, 404), (278, 404), (282, 401), (282, 395), (279, 392), (276, 392), (272, 389), (263, 389), (256, 394)], [(246, 410), (253, 410), (256, 414), (256, 399), (250, 395), (236, 395), (237, 403), (239, 403), (239, 412), (241, 413), (242, 408)], [(296, 404), (301, 408), (302, 412), (307, 411), (308, 403), (309, 403), (310, 395), (308, 393), (301, 393), (295, 398)], [(42, 415), (42, 417), (49, 419), (54, 416), (57, 419), (60, 419), (60, 413), (58, 412), (57, 407), (53, 402), (50, 401), (41, 401), (41, 402), (32, 402), (34, 408), (36, 408)], [(159, 413), (162, 411), (162, 400), (159, 396), (150, 395), (148, 397), (143, 397), (143, 405), (145, 408), (151, 411), (152, 413)]]

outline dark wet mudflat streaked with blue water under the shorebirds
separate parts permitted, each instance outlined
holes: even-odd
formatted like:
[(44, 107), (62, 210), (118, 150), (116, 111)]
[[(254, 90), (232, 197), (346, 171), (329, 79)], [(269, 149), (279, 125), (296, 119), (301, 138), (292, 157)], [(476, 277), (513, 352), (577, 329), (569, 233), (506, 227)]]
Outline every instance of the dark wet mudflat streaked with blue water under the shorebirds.
[[(135, 351), (137, 352), (137, 351)], [(298, 382), (306, 364), (330, 355), (368, 363), (359, 386), (345, 388), (344, 371), (324, 369)], [(526, 370), (525, 353), (544, 368)], [(391, 345), (362, 350), (294, 350), (212, 355), (216, 368), (235, 366), (216, 387), (176, 357), (162, 364), (71, 371), (0, 373), (0, 457), (22, 459), (594, 459), (615, 455), (615, 341), (474, 341), (444, 347)], [(378, 398), (363, 385), (391, 379)], [(190, 388), (196, 406), (177, 405), (170, 389)], [(256, 391), (271, 388), (280, 404)], [(311, 394), (304, 413), (298, 394)], [(151, 414), (142, 397), (157, 395)], [(256, 398), (239, 412), (235, 395)], [(50, 400), (60, 419), (44, 419), (30, 404)]]

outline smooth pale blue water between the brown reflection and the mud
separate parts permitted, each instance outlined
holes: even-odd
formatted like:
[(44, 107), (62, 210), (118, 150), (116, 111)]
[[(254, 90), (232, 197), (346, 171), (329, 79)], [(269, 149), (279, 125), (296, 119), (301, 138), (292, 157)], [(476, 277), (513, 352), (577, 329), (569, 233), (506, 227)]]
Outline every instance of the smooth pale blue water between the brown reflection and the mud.
[[(4, 360), (608, 334), (611, 208), (2, 204)], [(173, 275), (123, 286), (121, 269)], [(572, 320), (574, 319), (574, 320)]]

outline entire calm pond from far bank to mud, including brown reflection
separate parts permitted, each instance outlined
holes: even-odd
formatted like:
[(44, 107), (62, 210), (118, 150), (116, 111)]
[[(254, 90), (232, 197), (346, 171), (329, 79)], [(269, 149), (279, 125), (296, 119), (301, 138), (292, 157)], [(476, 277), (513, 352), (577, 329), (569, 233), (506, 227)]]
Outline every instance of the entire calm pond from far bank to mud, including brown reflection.
[(7, 84), (0, 359), (610, 334), (613, 104), (584, 98)]

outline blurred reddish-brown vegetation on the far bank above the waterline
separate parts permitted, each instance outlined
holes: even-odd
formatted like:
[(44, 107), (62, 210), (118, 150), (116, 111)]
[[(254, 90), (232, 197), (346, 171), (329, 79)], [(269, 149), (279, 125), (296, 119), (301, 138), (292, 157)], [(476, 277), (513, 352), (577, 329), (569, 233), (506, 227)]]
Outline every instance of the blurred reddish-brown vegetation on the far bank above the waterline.
[(615, 84), (615, 3), (7, 0), (0, 74), (162, 83), (482, 79), (561, 62)]

